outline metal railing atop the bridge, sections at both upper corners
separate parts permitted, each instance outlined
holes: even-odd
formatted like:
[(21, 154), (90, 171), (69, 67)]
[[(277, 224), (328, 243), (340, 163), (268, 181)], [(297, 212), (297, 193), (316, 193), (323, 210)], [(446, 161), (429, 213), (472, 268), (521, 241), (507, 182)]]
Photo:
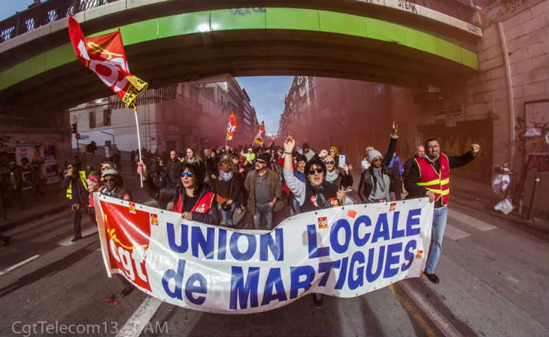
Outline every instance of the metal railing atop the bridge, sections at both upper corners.
[[(43, 0), (42, 0), (43, 1)], [(48, 0), (0, 22), (0, 43), (35, 30), (71, 14), (109, 4), (118, 0)], [(473, 23), (475, 8), (471, 0), (408, 0), (435, 11)]]

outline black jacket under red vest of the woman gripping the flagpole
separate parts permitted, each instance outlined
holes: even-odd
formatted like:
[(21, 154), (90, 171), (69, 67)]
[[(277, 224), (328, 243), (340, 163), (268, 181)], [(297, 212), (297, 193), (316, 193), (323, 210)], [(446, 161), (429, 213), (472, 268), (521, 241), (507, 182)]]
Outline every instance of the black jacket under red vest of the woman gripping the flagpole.
[[(181, 202), (183, 204), (185, 203), (186, 193), (181, 183), (177, 184), (175, 187), (164, 187), (163, 189), (157, 189), (155, 184), (152, 182), (152, 179), (147, 179), (145, 180), (145, 191), (147, 191), (147, 194), (152, 199), (157, 201), (169, 201), (171, 203), (175, 203), (179, 199), (179, 196), (181, 196)], [(202, 188), (197, 192), (200, 195), (198, 200), (200, 200), (203, 196), (205, 196), (205, 194), (210, 192), (210, 186), (203, 184)], [(212, 200), (212, 206), (207, 213), (203, 214), (192, 212), (191, 214), (193, 221), (198, 221), (199, 223), (209, 223), (210, 225), (218, 225), (219, 214), (217, 213), (217, 201), (215, 201), (215, 196)]]

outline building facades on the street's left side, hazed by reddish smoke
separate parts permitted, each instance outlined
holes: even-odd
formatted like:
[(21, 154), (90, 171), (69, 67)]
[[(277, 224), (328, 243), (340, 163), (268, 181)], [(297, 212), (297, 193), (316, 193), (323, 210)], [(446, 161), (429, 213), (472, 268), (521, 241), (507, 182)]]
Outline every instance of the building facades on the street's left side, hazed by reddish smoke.
[[(239, 119), (236, 141), (251, 135), (257, 124), (255, 110), (236, 80), (222, 83), (179, 83), (149, 89), (138, 96), (141, 146), (151, 152), (191, 146), (197, 149), (224, 144), (230, 110)], [(123, 151), (138, 148), (135, 117), (117, 97), (88, 102), (70, 110), (76, 123), (80, 150), (91, 141), (97, 146), (116, 145)], [(255, 123), (255, 124), (253, 124)], [(73, 148), (77, 140), (73, 138)]]

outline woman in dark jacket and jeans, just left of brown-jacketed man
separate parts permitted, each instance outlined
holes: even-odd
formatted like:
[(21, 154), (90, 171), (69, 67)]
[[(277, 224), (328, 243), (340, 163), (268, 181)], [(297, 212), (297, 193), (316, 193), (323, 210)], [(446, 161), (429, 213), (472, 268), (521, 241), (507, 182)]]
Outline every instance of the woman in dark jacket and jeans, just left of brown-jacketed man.
[(242, 188), (235, 170), (231, 155), (222, 155), (219, 160), (219, 175), (212, 184), (217, 204), (221, 206), (222, 221), (219, 225), (234, 226), (233, 213)]

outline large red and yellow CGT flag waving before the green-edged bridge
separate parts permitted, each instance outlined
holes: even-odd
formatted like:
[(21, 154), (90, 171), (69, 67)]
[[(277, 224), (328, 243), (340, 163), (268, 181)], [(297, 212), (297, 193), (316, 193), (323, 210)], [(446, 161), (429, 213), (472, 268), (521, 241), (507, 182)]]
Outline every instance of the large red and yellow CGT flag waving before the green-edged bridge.
[(121, 98), (126, 107), (135, 109), (135, 98), (140, 92), (147, 90), (148, 84), (129, 72), (120, 29), (86, 39), (78, 22), (70, 16), (68, 35), (78, 61), (95, 72)]

